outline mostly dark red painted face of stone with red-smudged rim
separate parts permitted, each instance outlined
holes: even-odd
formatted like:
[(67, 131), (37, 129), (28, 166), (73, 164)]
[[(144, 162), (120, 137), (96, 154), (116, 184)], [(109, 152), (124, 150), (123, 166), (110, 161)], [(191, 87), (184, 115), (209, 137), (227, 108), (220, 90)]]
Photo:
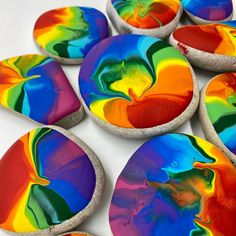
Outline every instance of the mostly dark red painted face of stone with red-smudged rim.
[(225, 56), (236, 56), (236, 20), (209, 25), (183, 26), (173, 33), (189, 47)]

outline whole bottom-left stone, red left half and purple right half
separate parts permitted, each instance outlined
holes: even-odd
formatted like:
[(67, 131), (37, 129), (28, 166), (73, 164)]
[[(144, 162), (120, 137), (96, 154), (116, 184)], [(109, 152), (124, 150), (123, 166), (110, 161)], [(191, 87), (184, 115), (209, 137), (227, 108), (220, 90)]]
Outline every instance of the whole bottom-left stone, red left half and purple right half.
[(36, 235), (70, 230), (95, 210), (104, 183), (100, 161), (80, 139), (62, 128), (32, 130), (0, 161), (0, 228)]

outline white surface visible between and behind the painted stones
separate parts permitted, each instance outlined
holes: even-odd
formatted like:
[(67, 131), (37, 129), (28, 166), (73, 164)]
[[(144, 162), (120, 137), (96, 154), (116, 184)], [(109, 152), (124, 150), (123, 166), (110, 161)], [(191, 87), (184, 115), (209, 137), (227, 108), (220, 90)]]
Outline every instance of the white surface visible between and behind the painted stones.
[[(0, 60), (27, 53), (38, 53), (33, 43), (32, 30), (37, 18), (47, 10), (78, 5), (95, 7), (106, 14), (106, 0), (0, 0), (0, 3)], [(184, 15), (181, 23), (189, 24), (191, 22)], [(111, 29), (113, 35), (117, 34), (112, 26)], [(63, 69), (77, 92), (80, 67), (63, 66)], [(200, 88), (216, 75), (194, 69)], [(0, 157), (19, 137), (37, 126), (33, 121), (22, 119), (22, 117), (0, 107)], [(92, 217), (79, 226), (79, 229), (98, 236), (112, 235), (108, 222), (108, 209), (115, 181), (129, 157), (145, 140), (128, 140), (113, 136), (95, 125), (87, 116), (70, 131), (97, 153), (107, 176), (106, 190), (101, 206)], [(204, 137), (197, 114), (190, 122), (185, 123), (176, 131)], [(7, 236), (7, 234), (0, 232), (0, 236)]]

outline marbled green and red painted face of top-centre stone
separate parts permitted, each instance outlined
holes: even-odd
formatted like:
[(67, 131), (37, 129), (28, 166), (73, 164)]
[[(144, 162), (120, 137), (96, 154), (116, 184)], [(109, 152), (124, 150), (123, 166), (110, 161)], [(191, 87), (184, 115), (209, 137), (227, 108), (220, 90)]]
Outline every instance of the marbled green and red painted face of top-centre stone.
[(111, 0), (118, 15), (128, 24), (141, 29), (169, 24), (180, 10), (180, 0)]

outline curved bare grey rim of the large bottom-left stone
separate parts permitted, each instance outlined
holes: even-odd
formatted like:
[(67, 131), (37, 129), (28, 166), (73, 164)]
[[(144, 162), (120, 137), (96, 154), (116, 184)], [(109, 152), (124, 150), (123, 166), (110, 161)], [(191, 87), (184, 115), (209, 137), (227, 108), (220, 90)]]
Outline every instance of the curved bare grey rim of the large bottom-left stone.
[[(77, 145), (79, 145), (83, 151), (88, 155), (89, 160), (92, 162), (93, 168), (95, 170), (96, 175), (96, 187), (93, 193), (93, 197), (90, 200), (89, 204), (79, 213), (77, 213), (74, 217), (72, 217), (69, 220), (64, 221), (63, 223), (59, 225), (54, 225), (49, 227), (48, 229), (39, 230), (36, 232), (10, 232), (7, 230), (4, 230), (1, 228), (3, 232), (6, 232), (10, 235), (18, 235), (18, 236), (49, 236), (49, 235), (58, 235), (63, 232), (69, 231), (78, 225), (80, 225), (82, 222), (84, 222), (92, 213), (96, 210), (96, 208), (99, 206), (102, 195), (105, 189), (106, 184), (106, 176), (105, 171), (102, 166), (101, 161), (97, 157), (97, 155), (92, 151), (92, 149), (87, 146), (80, 138), (72, 134), (71, 132), (54, 125), (44, 125), (40, 128), (51, 128), (53, 130), (56, 130), (60, 132), (61, 134), (65, 135), (68, 139), (75, 142)], [(94, 235), (91, 235), (94, 236)]]

